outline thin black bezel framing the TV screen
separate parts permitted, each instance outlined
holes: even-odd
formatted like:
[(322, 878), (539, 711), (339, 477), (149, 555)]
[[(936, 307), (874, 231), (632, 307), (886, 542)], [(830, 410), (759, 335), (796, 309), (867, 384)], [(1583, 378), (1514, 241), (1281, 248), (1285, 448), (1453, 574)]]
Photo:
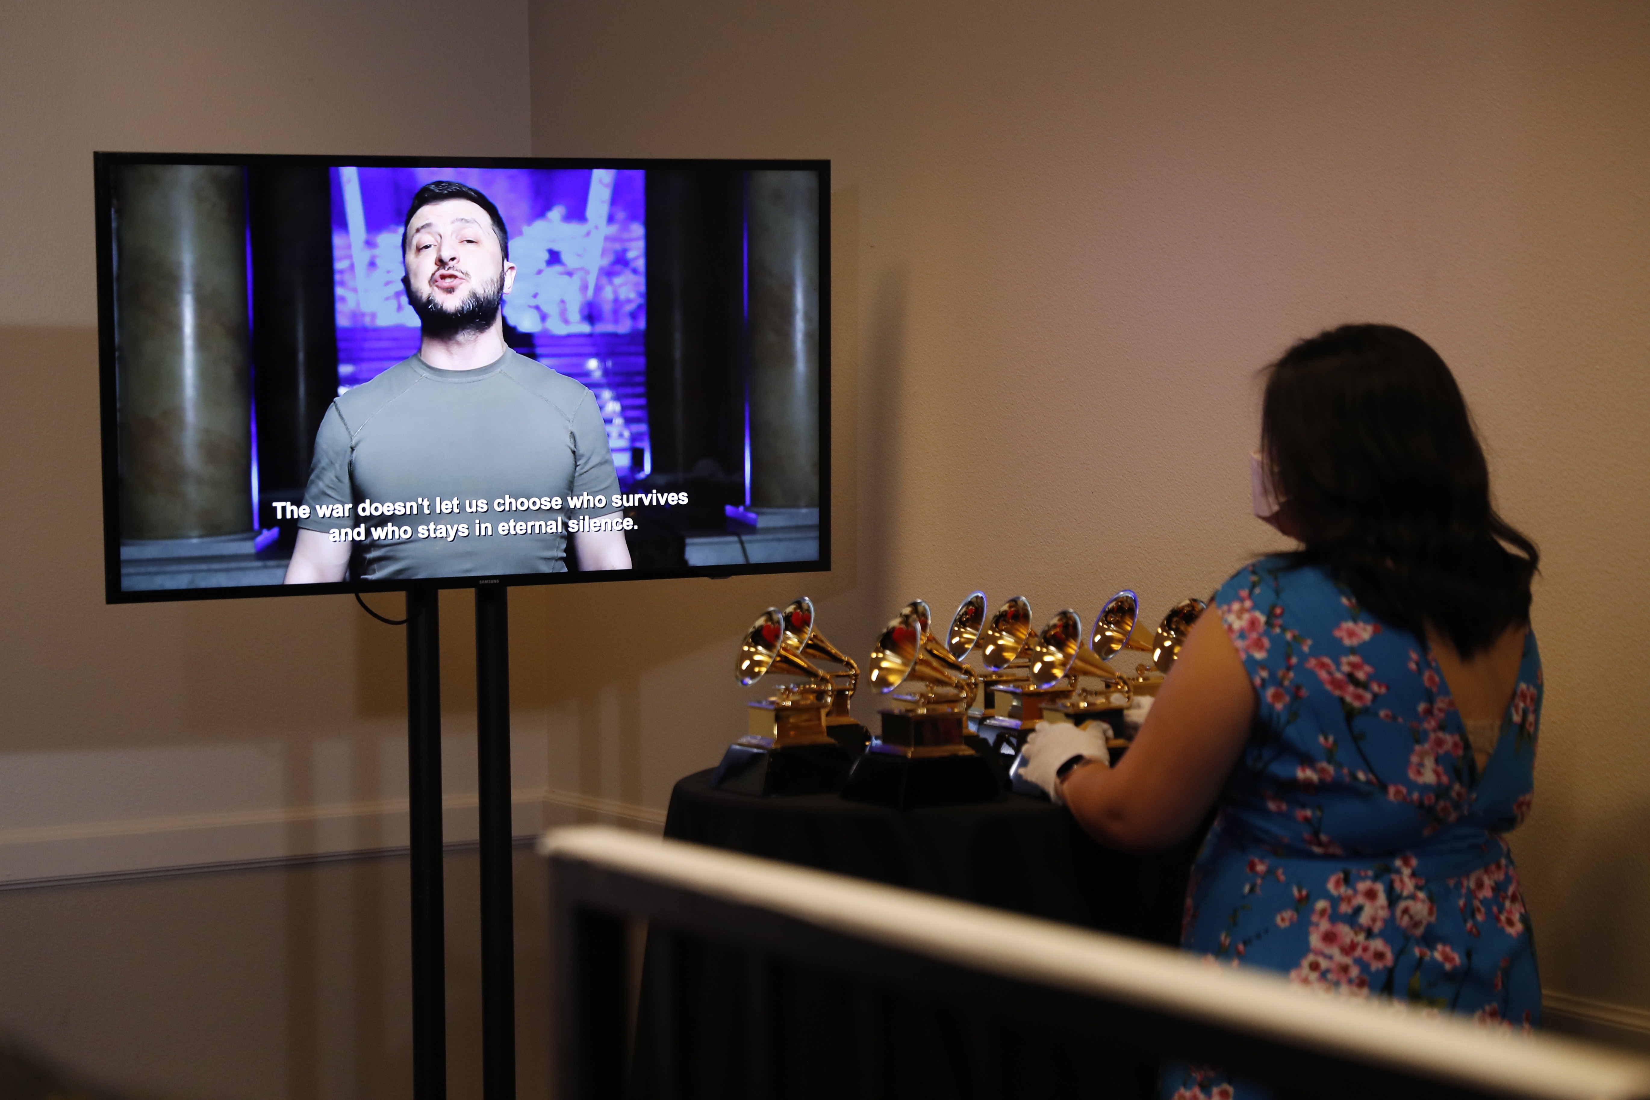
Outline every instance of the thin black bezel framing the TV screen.
[[(475, 577), (419, 577), (409, 581), (340, 581), (335, 584), (248, 584), (213, 589), (147, 589), (127, 592), (120, 587), (120, 454), (119, 393), (116, 386), (114, 331), (114, 170), (125, 163), (142, 165), (310, 165), (363, 168), (619, 168), (670, 170), (714, 168), (721, 172), (790, 170), (818, 173), (818, 439), (820, 439), (820, 556), (812, 562), (761, 562), (742, 566), (686, 566), (650, 569), (647, 572), (528, 572)], [(97, 218), (97, 360), (99, 421), (102, 434), (102, 511), (104, 511), (104, 599), (107, 604), (160, 604), (178, 600), (224, 600), (269, 595), (335, 595), (368, 592), (409, 592), (427, 589), (474, 589), (508, 584), (612, 584), (619, 581), (672, 581), (680, 577), (734, 577), (780, 572), (830, 572), (832, 567), (832, 437), (830, 437), (830, 162), (774, 158), (635, 158), (635, 157), (323, 157), (282, 153), (92, 153), (96, 173), (94, 203)]]

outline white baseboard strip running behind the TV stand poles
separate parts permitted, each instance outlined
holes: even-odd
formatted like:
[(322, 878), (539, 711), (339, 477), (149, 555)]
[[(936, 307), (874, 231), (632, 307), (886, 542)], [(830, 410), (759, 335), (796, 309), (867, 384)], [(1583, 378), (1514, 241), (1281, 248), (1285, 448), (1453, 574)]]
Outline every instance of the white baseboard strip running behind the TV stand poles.
[[(0, 830), (0, 887), (404, 848), (408, 805), (384, 798)], [(474, 793), (442, 798), (447, 843), (477, 838), (477, 806)], [(665, 823), (663, 810), (549, 787), (513, 792), (510, 816), (512, 833), (523, 838), (556, 825), (601, 821), (658, 833)]]

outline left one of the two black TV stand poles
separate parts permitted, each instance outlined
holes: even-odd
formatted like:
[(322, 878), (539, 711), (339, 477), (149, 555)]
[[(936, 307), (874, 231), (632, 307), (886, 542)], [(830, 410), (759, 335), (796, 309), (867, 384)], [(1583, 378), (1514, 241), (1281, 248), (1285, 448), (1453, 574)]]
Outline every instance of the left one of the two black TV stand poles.
[(408, 590), (408, 833), (412, 848), (412, 1097), (447, 1095), (447, 940), (441, 886), (441, 605)]

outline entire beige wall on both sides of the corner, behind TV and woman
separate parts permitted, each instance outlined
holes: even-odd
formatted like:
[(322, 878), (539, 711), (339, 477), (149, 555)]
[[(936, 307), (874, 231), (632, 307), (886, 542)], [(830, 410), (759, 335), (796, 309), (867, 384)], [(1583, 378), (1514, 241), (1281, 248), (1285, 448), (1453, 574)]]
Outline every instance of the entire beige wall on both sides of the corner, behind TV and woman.
[[(1155, 617), (1206, 594), (1272, 544), (1247, 516), (1252, 371), (1389, 320), (1455, 366), (1544, 551), (1516, 851), (1548, 986), (1650, 1022), (1650, 643), (1619, 625), (1650, 566), (1650, 10), (469, 12), (475, 43), (432, 3), (0, 15), (26, 272), (0, 292), (0, 877), (403, 831), (398, 632), (342, 597), (102, 605), (94, 148), (828, 157), (837, 569), (513, 594), (518, 828), (657, 821), (741, 731), (741, 628), (797, 592), (856, 653), (912, 595), (1092, 613), (1127, 584)], [(469, 600), (444, 609), (457, 836)], [(607, 665), (589, 642), (615, 632), (635, 655)]]

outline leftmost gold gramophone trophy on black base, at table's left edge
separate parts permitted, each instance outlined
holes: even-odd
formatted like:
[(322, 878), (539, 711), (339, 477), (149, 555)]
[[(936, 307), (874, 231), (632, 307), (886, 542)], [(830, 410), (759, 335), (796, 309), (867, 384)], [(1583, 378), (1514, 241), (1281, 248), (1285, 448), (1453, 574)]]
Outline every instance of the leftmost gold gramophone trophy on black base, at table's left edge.
[[(813, 605), (807, 604), (810, 628), (812, 618)], [(728, 745), (711, 787), (741, 795), (812, 795), (840, 790), (846, 782), (851, 759), (825, 727), (835, 683), (805, 656), (808, 638), (790, 638), (787, 643), (784, 613), (769, 607), (739, 643), (734, 675), (741, 686), (749, 688), (766, 676), (800, 683), (782, 684), (767, 699), (751, 703), (749, 732)]]

